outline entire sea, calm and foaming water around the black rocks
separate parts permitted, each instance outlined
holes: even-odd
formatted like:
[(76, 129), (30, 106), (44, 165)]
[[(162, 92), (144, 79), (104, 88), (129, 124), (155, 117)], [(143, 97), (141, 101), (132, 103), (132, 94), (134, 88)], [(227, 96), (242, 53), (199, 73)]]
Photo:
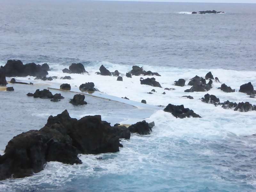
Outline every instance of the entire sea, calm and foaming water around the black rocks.
[[(191, 14), (213, 9), (225, 13)], [(163, 110), (87, 96), (88, 105), (76, 108), (68, 105), (73, 94), (64, 93), (65, 100), (52, 103), (27, 98), (33, 87), (14, 85), (14, 92), (0, 92), (1, 154), (12, 137), (40, 129), (48, 116), (64, 109), (76, 118), (99, 114), (112, 125), (143, 118), (156, 126), (150, 135), (132, 134), (130, 140), (122, 140), (120, 152), (81, 155), (82, 165), (49, 162), (31, 177), (0, 181), (0, 191), (255, 191), (255, 111), (215, 107), (199, 100), (206, 92), (186, 93), (190, 86), (173, 85), (180, 78), (187, 84), (192, 77), (211, 71), (221, 83), (213, 81), (207, 93), (221, 102), (255, 105), (255, 98), (238, 92), (244, 83), (256, 86), (255, 10), (256, 4), (1, 0), (0, 65), (9, 59), (48, 63), (48, 76), (58, 76), (46, 82), (30, 76), (17, 80), (31, 78), (42, 88), (69, 83), (72, 89), (94, 82), (105, 94), (138, 102), (145, 99), (150, 105), (184, 104), (202, 118), (176, 119)], [(89, 75), (68, 74), (71, 80), (60, 79), (67, 75), (63, 68), (79, 62)], [(102, 64), (122, 73), (123, 82), (115, 76), (96, 75)], [(133, 65), (158, 72), (161, 76), (155, 78), (162, 87), (175, 90), (156, 87), (154, 94), (148, 94), (153, 87), (141, 85), (141, 76), (125, 77)], [(220, 91), (222, 83), (236, 92)]]

